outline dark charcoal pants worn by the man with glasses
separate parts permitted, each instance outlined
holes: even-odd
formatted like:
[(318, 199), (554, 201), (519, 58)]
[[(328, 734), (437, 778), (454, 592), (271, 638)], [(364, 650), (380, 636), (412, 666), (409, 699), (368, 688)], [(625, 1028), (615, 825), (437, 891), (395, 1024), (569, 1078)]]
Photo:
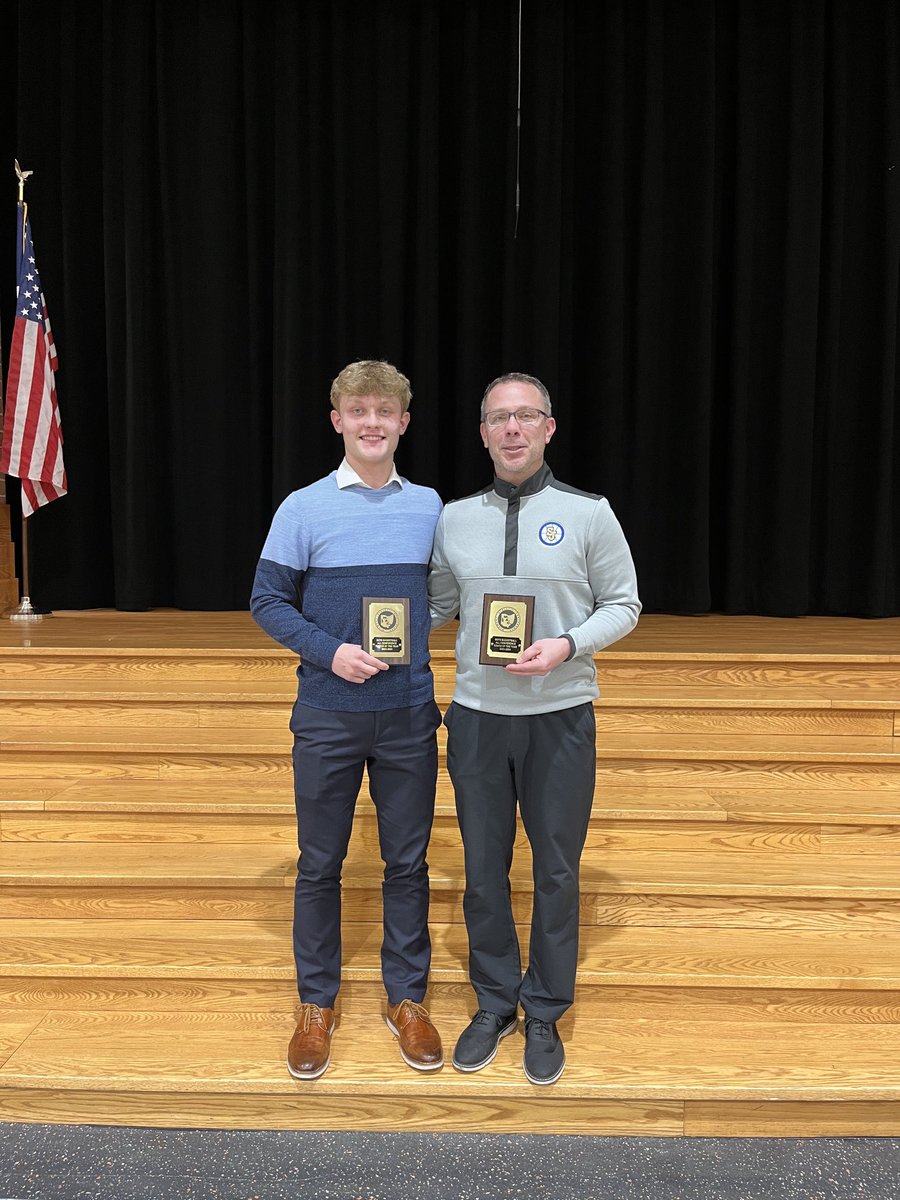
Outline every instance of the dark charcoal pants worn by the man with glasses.
[[(448, 768), (466, 851), (463, 913), (479, 1008), (556, 1021), (575, 997), (578, 865), (596, 774), (590, 703), (535, 716), (451, 704)], [(534, 908), (522, 974), (509, 870), (516, 805), (532, 845)]]

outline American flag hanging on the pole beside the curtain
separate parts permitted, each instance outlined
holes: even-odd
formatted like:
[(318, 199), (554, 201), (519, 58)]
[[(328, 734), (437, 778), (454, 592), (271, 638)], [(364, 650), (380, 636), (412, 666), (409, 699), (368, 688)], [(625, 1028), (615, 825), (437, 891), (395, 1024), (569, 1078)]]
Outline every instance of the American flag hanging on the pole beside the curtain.
[(0, 473), (22, 480), (22, 512), (66, 494), (62, 426), (56, 403), (56, 349), (35, 263), (28, 206), (19, 204), (18, 301), (6, 384)]

